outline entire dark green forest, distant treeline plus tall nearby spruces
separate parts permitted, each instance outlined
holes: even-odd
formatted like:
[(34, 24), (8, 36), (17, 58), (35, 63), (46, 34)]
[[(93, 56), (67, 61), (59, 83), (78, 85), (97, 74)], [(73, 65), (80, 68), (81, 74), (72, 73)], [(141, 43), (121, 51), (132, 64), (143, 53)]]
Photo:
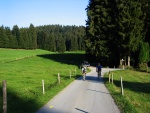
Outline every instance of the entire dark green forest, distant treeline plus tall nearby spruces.
[(150, 0), (89, 0), (85, 11), (85, 27), (2, 25), (0, 48), (85, 50), (103, 66), (150, 65)]

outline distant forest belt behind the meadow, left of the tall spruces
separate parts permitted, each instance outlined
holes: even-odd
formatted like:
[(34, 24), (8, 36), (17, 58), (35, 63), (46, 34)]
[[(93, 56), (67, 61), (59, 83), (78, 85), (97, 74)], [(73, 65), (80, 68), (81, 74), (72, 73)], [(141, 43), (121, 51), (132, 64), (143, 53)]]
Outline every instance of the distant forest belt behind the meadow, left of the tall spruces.
[(0, 27), (0, 48), (45, 49), (49, 51), (84, 50), (84, 26), (44, 25), (19, 28)]

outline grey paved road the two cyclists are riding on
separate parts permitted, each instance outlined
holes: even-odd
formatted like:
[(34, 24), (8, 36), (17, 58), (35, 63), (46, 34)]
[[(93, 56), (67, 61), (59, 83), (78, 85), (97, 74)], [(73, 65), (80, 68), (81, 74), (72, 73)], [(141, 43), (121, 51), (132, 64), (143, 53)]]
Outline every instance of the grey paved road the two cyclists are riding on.
[(120, 113), (95, 67), (90, 68), (86, 81), (75, 80), (36, 113)]

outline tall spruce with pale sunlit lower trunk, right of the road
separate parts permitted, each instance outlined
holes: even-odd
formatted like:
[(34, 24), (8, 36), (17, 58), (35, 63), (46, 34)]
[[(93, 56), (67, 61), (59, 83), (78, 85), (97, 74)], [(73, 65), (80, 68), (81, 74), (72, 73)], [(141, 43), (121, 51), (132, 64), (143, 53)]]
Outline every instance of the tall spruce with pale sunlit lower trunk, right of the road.
[[(120, 2), (121, 1), (121, 2)], [(121, 38), (121, 54), (128, 56), (128, 66), (130, 66), (130, 55), (138, 50), (139, 43), (144, 37), (144, 17), (141, 3), (137, 0), (120, 0), (118, 5), (119, 15), (118, 35)]]

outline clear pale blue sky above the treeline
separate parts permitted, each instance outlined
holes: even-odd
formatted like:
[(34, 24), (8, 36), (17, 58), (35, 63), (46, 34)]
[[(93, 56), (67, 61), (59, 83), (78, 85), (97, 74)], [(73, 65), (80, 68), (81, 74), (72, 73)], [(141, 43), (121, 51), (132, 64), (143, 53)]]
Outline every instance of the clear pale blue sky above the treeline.
[(89, 0), (0, 0), (0, 26), (85, 26)]

